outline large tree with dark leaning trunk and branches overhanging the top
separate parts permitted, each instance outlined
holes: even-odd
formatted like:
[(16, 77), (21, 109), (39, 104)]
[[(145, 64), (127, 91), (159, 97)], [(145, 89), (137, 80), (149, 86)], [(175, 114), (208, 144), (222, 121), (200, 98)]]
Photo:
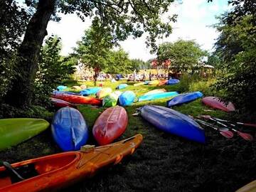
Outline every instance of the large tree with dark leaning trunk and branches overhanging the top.
[(18, 48), (18, 55), (22, 58), (16, 63), (19, 75), (12, 80), (13, 87), (7, 92), (6, 102), (17, 107), (31, 104), (43, 38), (47, 34), (48, 21), (57, 12), (76, 13), (82, 19), (87, 16), (100, 18), (101, 23), (110, 27), (114, 41), (122, 41), (129, 35), (139, 37), (148, 32), (146, 43), (156, 49), (155, 38), (163, 34), (169, 36), (170, 21), (176, 21), (176, 15), (169, 17), (166, 23), (160, 17), (169, 11), (173, 1), (26, 0), (28, 6), (36, 6), (36, 12), (28, 22), (23, 42)]

